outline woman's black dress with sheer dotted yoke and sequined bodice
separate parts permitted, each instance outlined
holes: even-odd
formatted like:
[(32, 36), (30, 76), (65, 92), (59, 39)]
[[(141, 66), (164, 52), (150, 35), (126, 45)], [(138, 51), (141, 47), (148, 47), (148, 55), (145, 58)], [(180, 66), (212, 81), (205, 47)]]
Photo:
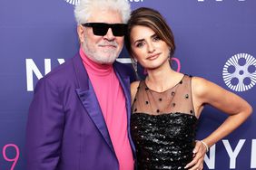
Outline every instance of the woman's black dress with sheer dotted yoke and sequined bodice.
[(133, 101), (131, 132), (138, 169), (184, 169), (192, 161), (197, 118), (191, 80), (183, 76), (163, 92), (141, 81)]

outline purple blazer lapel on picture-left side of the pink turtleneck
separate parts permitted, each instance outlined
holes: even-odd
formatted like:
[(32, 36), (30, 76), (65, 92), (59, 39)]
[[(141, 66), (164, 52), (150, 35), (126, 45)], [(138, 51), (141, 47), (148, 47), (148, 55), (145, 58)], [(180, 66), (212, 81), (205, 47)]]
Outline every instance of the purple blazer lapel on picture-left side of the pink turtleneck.
[(74, 71), (76, 72), (76, 77), (78, 81), (79, 88), (76, 89), (76, 93), (79, 99), (82, 101), (84, 109), (89, 114), (90, 118), (94, 121), (95, 126), (98, 128), (103, 136), (103, 139), (107, 145), (113, 149), (113, 144), (106, 127), (106, 123), (103, 118), (102, 109), (96, 98), (94, 88), (91, 81), (89, 80), (87, 71), (84, 69), (83, 61), (78, 54), (74, 57)]

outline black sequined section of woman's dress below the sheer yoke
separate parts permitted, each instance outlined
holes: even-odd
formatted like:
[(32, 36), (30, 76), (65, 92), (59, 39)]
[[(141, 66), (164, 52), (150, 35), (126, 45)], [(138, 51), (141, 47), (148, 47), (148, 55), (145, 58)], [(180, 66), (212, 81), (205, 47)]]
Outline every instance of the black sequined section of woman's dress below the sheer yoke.
[(183, 113), (135, 113), (131, 131), (138, 170), (183, 169), (192, 161), (197, 118)]

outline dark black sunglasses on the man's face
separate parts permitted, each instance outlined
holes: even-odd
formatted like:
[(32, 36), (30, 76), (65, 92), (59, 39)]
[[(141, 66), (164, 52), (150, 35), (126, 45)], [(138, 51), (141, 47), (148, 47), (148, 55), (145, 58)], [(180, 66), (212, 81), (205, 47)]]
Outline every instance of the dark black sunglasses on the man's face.
[(127, 24), (105, 24), (105, 23), (85, 23), (84, 27), (92, 27), (94, 35), (103, 36), (111, 28), (114, 36), (123, 36), (127, 30)]

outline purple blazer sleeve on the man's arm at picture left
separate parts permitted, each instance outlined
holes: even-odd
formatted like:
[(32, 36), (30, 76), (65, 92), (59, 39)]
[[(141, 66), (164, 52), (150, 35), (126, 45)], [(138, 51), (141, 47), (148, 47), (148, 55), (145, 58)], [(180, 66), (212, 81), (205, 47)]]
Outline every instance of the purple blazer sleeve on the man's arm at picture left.
[(50, 79), (38, 81), (26, 127), (26, 169), (54, 170), (60, 160), (64, 111), (60, 92)]

